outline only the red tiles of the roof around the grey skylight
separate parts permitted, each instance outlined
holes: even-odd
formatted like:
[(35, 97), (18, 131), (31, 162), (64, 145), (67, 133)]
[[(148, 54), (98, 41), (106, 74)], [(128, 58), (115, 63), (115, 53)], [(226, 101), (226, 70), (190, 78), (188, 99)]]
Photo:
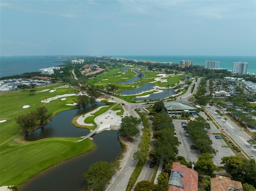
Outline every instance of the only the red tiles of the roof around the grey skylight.
[(188, 168), (186, 165), (181, 165), (178, 162), (172, 163), (172, 171), (183, 173), (181, 183), (184, 184), (184, 189), (169, 185), (168, 191), (197, 191), (198, 190), (198, 173), (194, 169)]

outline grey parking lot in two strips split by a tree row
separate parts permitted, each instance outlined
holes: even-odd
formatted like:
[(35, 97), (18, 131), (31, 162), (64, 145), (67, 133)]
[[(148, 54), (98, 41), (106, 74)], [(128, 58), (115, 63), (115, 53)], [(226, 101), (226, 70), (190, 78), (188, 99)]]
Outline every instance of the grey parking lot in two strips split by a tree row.
[[(193, 140), (186, 136), (186, 130), (182, 128), (182, 122), (188, 123), (187, 120), (173, 120), (176, 136), (178, 140), (181, 142), (180, 146), (178, 146), (178, 156), (184, 156), (187, 162), (192, 161), (196, 162), (198, 160), (198, 155), (200, 155), (199, 150), (191, 149), (190, 145), (194, 144)], [(212, 148), (216, 150), (216, 156), (212, 159), (213, 163), (216, 166), (220, 166), (221, 158), (223, 156), (234, 156), (234, 152), (227, 146), (226, 142), (223, 139), (216, 139), (211, 133), (218, 132), (216, 127), (209, 122), (211, 129), (206, 130), (209, 134), (210, 139), (212, 140)]]

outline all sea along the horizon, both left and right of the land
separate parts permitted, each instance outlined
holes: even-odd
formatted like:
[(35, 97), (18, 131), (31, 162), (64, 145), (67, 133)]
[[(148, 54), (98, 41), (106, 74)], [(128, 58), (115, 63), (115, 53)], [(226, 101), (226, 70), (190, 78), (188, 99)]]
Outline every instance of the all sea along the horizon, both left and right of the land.
[[(194, 65), (204, 65), (204, 61), (219, 61), (220, 68), (232, 70), (233, 62), (248, 62), (248, 73), (256, 73), (256, 56), (127, 56), (112, 55), (112, 57), (123, 57), (136, 59), (138, 61), (174, 62), (180, 60), (194, 61)], [(25, 72), (37, 72), (38, 69), (62, 65), (64, 58), (58, 56), (9, 56), (0, 57), (0, 77), (23, 74)]]

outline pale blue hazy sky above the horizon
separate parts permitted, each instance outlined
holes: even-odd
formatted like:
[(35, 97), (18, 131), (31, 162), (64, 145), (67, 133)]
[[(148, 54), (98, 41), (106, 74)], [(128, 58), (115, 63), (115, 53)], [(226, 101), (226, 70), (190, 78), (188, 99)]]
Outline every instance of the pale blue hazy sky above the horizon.
[(0, 2), (0, 55), (256, 55), (256, 1)]

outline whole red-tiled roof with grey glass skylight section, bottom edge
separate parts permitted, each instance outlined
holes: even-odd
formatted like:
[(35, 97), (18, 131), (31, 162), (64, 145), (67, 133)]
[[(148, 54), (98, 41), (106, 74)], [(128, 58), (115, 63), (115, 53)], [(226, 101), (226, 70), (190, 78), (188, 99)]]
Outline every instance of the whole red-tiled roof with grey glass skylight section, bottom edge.
[[(180, 187), (177, 187), (175, 185)], [(194, 169), (188, 168), (186, 165), (181, 165), (178, 162), (173, 162), (172, 173), (169, 179), (168, 191), (197, 191), (197, 190), (198, 190), (198, 173)]]

